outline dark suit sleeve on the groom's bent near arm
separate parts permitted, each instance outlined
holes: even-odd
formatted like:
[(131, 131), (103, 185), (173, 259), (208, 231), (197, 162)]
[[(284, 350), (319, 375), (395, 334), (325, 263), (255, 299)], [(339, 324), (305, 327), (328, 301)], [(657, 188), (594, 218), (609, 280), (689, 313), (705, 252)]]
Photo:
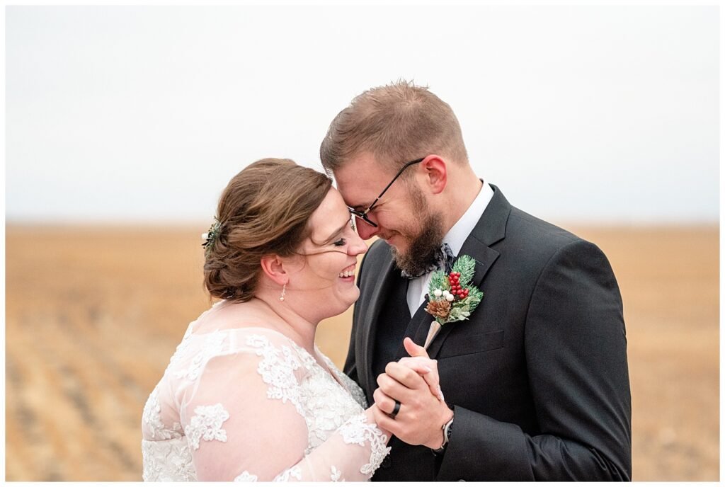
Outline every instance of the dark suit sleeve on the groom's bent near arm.
[(574, 241), (544, 266), (524, 343), (536, 435), (454, 407), (437, 480), (630, 480), (622, 301), (605, 255)]

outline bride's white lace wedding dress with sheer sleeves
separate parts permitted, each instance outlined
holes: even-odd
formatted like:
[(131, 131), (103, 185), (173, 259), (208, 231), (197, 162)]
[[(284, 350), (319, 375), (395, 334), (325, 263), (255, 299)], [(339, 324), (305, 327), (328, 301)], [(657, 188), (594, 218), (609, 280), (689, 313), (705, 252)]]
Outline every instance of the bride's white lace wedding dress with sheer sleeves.
[(368, 424), (363, 391), (316, 347), (334, 377), (275, 330), (197, 334), (195, 323), (144, 407), (144, 480), (373, 475), (386, 437)]

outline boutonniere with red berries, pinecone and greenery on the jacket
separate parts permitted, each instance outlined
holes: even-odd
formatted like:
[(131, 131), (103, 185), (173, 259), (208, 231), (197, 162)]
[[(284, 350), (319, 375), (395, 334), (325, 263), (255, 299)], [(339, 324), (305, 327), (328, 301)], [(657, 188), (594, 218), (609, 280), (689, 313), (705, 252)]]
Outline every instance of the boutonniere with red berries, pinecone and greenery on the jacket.
[(450, 274), (436, 270), (431, 274), (428, 284), (428, 306), (426, 312), (433, 315), (425, 347), (438, 334), (446, 323), (468, 320), (471, 313), (481, 302), (484, 294), (476, 286), (471, 286), (473, 273), (476, 272), (476, 260), (462, 255), (453, 264)]

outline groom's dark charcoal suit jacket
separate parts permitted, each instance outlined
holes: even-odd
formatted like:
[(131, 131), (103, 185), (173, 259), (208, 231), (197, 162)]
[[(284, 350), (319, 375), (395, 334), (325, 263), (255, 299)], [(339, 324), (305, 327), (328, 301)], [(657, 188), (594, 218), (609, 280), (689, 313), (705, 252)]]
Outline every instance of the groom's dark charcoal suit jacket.
[[(629, 480), (631, 399), (622, 301), (592, 243), (494, 196), (460, 254), (476, 259), (484, 297), (448, 323), (428, 353), (455, 412), (442, 457), (392, 438), (373, 480)], [(423, 344), (425, 303), (407, 323), (390, 247), (370, 246), (360, 267), (345, 372), (373, 404), (373, 351), (382, 327)], [(405, 301), (405, 299), (397, 299)], [(409, 317), (410, 314), (407, 314)], [(402, 332), (401, 332), (402, 333)], [(402, 341), (396, 359), (405, 357)]]

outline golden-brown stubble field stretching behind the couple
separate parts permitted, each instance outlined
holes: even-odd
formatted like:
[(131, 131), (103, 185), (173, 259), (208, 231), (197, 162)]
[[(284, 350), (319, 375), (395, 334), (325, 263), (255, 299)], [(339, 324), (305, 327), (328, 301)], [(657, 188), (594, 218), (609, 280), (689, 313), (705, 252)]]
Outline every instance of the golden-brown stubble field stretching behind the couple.
[[(718, 480), (718, 228), (571, 229), (623, 294), (634, 480)], [(6, 480), (141, 480), (146, 396), (209, 305), (204, 230), (6, 228)], [(351, 315), (320, 325), (337, 365)]]

